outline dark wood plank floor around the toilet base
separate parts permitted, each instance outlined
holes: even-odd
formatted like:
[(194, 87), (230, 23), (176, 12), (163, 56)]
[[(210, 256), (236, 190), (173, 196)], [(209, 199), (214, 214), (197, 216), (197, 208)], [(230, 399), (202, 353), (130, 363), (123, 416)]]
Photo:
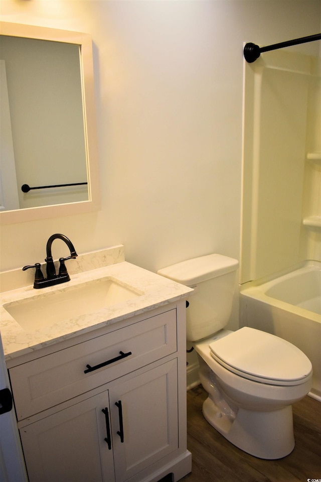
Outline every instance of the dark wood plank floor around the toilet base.
[(305, 397), (293, 405), (294, 450), (279, 460), (253, 457), (228, 442), (205, 420), (202, 386), (187, 393), (188, 449), (192, 473), (183, 482), (306, 482), (321, 480), (321, 403)]

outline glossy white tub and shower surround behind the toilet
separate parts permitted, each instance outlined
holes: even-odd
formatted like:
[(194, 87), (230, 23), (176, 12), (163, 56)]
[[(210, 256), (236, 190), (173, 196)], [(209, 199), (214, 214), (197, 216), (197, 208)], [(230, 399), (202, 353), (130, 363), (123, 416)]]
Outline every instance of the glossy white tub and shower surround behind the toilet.
[(321, 401), (320, 58), (244, 62), (240, 325), (298, 346)]

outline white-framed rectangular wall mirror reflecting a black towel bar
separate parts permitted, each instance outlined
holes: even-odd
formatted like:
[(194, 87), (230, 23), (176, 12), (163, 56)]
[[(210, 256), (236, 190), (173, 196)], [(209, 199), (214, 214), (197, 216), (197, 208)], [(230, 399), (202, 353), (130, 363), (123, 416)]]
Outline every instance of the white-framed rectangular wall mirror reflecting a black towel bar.
[(1, 222), (97, 210), (91, 37), (0, 27)]

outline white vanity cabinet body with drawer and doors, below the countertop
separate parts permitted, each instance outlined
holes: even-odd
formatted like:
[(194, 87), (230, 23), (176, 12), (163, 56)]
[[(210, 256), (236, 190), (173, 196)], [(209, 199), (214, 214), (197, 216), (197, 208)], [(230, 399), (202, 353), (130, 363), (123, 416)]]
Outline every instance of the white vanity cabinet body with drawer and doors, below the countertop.
[(30, 482), (156, 482), (191, 470), (185, 301), (11, 360)]

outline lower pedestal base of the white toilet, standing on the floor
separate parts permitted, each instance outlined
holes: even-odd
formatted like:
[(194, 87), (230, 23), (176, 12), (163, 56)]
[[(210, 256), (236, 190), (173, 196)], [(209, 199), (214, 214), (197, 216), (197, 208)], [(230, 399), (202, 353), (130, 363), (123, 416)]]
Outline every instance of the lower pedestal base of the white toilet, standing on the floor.
[(239, 408), (232, 419), (208, 397), (203, 404), (203, 415), (229, 442), (255, 457), (282, 458), (294, 448), (291, 405), (272, 412)]

